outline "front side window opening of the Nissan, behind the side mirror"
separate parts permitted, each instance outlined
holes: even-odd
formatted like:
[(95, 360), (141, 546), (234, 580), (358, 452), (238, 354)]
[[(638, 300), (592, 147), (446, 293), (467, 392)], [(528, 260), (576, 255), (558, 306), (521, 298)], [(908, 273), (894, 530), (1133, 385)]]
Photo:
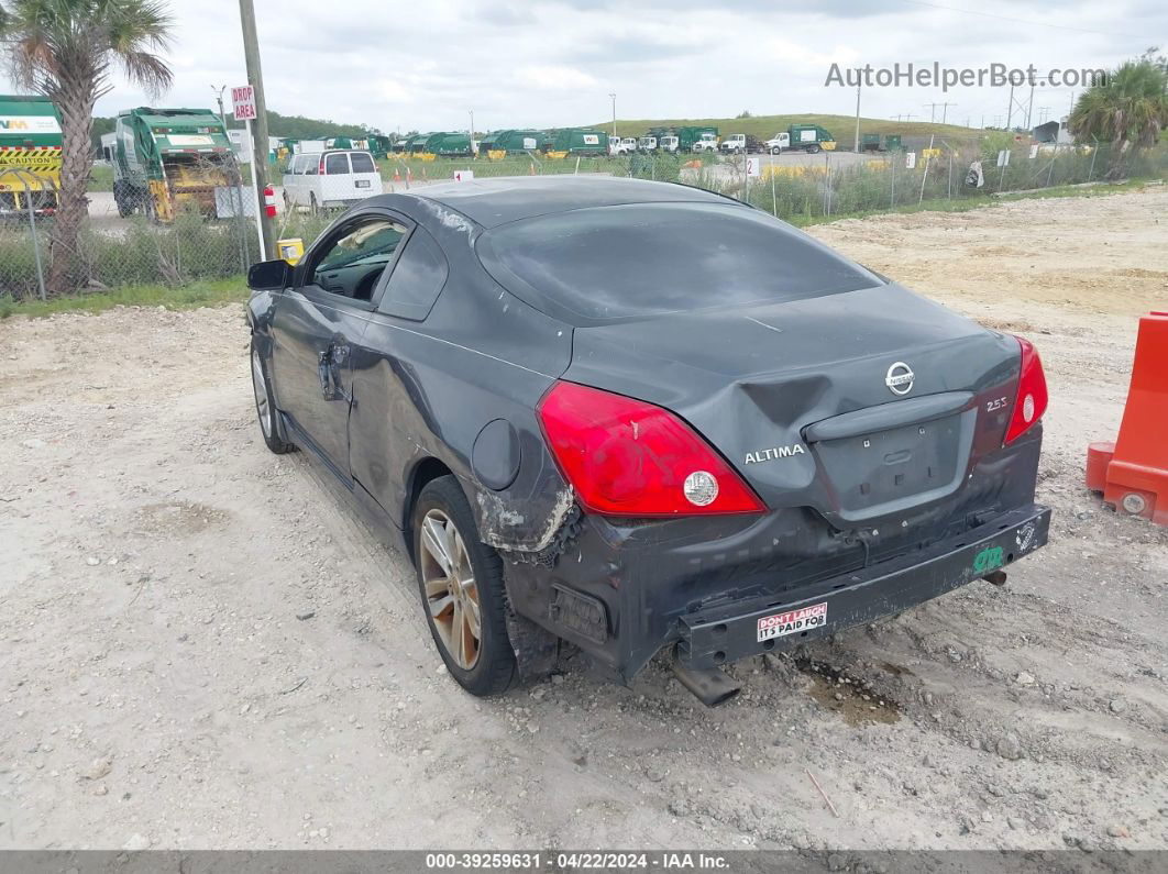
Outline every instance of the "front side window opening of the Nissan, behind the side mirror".
[(390, 218), (357, 219), (314, 259), (310, 282), (329, 294), (368, 301), (408, 231)]

